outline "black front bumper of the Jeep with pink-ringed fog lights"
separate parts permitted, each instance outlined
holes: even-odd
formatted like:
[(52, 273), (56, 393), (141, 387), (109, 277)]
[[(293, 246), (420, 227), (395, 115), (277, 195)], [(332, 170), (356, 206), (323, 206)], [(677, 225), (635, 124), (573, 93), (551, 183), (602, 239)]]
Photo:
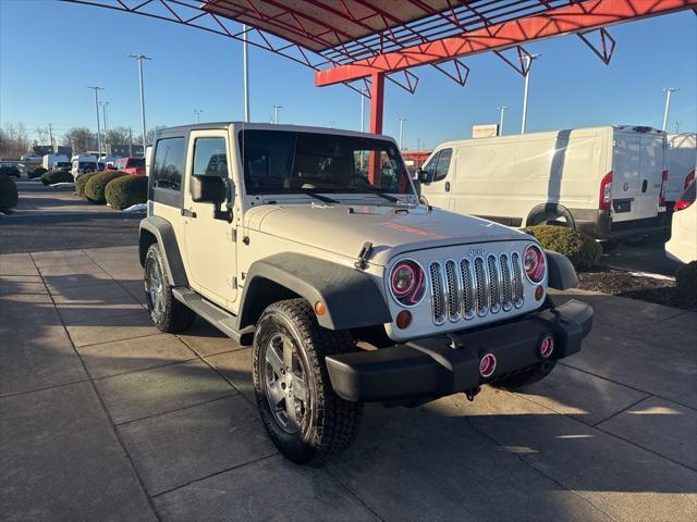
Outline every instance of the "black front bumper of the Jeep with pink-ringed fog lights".
[[(549, 359), (580, 350), (592, 325), (592, 308), (571, 300), (554, 310), (474, 332), (426, 337), (377, 350), (327, 357), (334, 391), (355, 402), (436, 398), (476, 389), (545, 360), (540, 344), (554, 339)], [(481, 358), (492, 353), (493, 374), (479, 373)]]

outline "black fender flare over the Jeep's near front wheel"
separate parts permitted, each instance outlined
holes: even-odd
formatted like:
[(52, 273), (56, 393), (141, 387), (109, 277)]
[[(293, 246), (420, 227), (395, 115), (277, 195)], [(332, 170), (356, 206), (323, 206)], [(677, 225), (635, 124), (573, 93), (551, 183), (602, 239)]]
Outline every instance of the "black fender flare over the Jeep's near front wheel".
[(255, 261), (245, 275), (239, 327), (256, 324), (261, 312), (278, 300), (305, 298), (313, 307), (325, 303), (317, 315), (328, 330), (352, 330), (392, 321), (384, 296), (374, 277), (323, 259), (283, 252)]

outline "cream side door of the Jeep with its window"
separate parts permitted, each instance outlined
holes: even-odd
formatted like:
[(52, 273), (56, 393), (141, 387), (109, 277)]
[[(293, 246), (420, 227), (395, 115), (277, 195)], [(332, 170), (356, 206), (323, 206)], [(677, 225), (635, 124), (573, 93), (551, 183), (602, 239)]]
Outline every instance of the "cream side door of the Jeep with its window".
[(232, 158), (227, 130), (195, 130), (188, 140), (186, 187), (184, 190), (184, 241), (189, 286), (219, 306), (236, 299), (236, 234), (234, 223), (213, 219), (215, 206), (192, 198), (191, 176), (219, 176), (229, 189), (233, 203), (234, 189), (230, 176)]

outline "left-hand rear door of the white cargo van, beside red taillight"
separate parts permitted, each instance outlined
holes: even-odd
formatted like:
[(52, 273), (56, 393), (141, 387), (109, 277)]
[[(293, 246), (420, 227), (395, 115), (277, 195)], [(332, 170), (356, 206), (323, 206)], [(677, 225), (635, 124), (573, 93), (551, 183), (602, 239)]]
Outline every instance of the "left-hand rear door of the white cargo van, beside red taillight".
[[(640, 136), (615, 133), (612, 148), (612, 221), (634, 220), (639, 192)], [(657, 199), (658, 200), (658, 199)]]

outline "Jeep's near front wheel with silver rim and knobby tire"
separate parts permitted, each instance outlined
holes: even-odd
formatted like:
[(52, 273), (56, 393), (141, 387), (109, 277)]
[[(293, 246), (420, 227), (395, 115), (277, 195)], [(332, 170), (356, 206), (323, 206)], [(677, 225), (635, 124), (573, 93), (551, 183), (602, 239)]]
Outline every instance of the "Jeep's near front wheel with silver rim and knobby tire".
[(331, 387), (325, 357), (355, 348), (347, 332), (322, 328), (310, 304), (270, 304), (254, 336), (254, 391), (271, 440), (291, 461), (321, 463), (356, 437), (363, 405)]

